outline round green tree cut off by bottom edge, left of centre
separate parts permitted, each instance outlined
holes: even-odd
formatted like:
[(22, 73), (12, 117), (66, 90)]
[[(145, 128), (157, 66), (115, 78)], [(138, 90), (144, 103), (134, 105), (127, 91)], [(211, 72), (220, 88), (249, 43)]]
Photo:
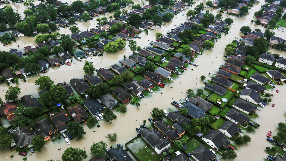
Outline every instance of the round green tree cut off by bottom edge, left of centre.
[(86, 151), (80, 148), (69, 147), (63, 152), (63, 161), (81, 161), (87, 158)]

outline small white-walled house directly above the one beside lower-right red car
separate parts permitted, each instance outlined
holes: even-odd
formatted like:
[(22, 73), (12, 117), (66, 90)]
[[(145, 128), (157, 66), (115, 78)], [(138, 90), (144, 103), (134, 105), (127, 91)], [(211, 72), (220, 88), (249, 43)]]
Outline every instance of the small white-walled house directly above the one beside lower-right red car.
[(232, 121), (226, 121), (220, 129), (218, 129), (221, 133), (226, 135), (229, 138), (234, 137), (235, 134), (239, 134), (241, 129)]

